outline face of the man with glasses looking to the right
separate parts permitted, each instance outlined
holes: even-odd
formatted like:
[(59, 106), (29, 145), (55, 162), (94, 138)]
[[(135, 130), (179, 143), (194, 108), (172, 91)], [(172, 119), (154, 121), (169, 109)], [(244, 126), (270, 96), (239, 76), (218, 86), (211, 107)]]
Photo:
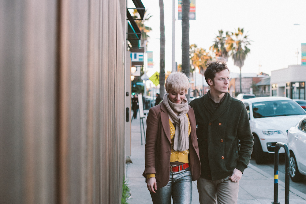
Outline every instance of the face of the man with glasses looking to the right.
[(211, 89), (214, 89), (214, 91), (218, 94), (226, 93), (230, 85), (230, 81), (227, 80), (229, 77), (230, 73), (227, 69), (217, 72), (215, 78), (209, 81)]

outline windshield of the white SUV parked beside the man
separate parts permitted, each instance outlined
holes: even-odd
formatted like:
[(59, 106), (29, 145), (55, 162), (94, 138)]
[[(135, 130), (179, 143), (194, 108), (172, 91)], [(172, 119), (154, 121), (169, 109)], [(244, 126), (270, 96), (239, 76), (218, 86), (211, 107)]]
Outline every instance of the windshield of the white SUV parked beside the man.
[(293, 101), (264, 101), (252, 103), (254, 118), (306, 115), (304, 110)]

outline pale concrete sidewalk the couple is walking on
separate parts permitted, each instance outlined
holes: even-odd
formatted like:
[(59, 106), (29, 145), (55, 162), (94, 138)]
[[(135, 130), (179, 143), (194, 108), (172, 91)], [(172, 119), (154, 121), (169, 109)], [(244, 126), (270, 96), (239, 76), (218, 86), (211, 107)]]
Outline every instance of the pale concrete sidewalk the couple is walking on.
[[(144, 110), (148, 113), (148, 110)], [(146, 130), (146, 118), (144, 120), (144, 128)], [(142, 127), (141, 127), (142, 128)], [(142, 129), (141, 129), (142, 130)], [(132, 135), (132, 164), (126, 165), (126, 178), (130, 188), (131, 197), (129, 204), (152, 204), (151, 195), (147, 190), (145, 179), (142, 176), (144, 172), (144, 134), (142, 130), (143, 145), (140, 139), (140, 119), (133, 119), (131, 125)], [(274, 169), (271, 168), (273, 175)], [(274, 195), (274, 177), (271, 172), (267, 173), (250, 164), (244, 170), (242, 179), (239, 184), (238, 204), (271, 204)], [(280, 173), (281, 174), (281, 173)], [(292, 181), (290, 180), (290, 183)], [(196, 181), (193, 182), (192, 204), (199, 204), (199, 195), (196, 187)], [(306, 194), (290, 187), (289, 194), (290, 204), (306, 204)], [(285, 203), (285, 183), (278, 182), (278, 202)]]

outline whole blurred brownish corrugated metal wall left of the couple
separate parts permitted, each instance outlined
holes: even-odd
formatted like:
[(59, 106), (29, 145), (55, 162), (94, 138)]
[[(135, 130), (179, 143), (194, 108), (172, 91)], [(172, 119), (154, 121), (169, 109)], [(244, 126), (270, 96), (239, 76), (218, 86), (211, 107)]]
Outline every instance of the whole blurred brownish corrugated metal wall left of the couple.
[(125, 0), (0, 1), (0, 203), (121, 203)]

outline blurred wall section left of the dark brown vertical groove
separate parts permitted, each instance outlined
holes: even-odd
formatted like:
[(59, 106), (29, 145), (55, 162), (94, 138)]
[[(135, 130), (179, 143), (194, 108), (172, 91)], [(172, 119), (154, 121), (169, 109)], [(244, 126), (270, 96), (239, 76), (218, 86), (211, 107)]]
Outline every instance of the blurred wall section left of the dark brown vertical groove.
[(56, 2), (0, 5), (0, 203), (54, 203)]

